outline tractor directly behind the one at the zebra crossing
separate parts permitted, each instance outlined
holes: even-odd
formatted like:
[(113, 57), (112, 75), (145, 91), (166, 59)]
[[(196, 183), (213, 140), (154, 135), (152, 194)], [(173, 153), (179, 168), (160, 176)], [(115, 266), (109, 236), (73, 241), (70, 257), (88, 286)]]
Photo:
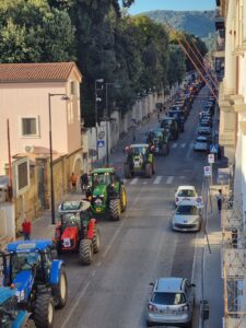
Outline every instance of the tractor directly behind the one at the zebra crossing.
[(169, 140), (164, 129), (157, 128), (147, 132), (147, 143), (154, 147), (154, 154), (165, 156), (169, 153)]

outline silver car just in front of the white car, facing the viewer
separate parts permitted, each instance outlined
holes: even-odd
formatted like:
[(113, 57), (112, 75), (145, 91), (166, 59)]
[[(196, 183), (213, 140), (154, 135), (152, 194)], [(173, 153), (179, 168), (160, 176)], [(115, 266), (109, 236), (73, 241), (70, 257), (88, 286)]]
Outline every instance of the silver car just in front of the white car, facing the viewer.
[(181, 201), (172, 219), (172, 227), (175, 231), (197, 232), (201, 229), (201, 206), (197, 201)]

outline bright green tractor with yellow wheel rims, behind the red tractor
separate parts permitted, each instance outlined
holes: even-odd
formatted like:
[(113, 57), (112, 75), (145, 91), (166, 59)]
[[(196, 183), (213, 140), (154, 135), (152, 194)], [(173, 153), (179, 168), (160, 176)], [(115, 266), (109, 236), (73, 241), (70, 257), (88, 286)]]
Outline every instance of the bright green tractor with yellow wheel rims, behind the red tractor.
[(91, 201), (93, 214), (109, 214), (113, 221), (118, 221), (127, 209), (127, 192), (115, 168), (95, 168), (90, 180), (86, 198)]

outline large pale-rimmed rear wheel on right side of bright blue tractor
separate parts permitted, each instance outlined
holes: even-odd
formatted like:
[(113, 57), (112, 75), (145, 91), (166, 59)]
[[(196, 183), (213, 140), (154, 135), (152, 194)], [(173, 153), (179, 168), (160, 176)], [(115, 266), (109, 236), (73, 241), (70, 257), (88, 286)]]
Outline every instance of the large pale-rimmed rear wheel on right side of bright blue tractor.
[(54, 288), (55, 306), (56, 308), (62, 308), (68, 300), (68, 279), (65, 271), (65, 267), (61, 267), (58, 284)]

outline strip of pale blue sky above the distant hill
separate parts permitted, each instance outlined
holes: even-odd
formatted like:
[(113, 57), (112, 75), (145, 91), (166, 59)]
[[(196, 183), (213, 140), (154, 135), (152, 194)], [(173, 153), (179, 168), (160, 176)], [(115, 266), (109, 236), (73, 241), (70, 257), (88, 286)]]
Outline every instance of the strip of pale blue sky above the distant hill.
[(215, 0), (134, 0), (129, 13), (134, 15), (152, 10), (214, 10)]

